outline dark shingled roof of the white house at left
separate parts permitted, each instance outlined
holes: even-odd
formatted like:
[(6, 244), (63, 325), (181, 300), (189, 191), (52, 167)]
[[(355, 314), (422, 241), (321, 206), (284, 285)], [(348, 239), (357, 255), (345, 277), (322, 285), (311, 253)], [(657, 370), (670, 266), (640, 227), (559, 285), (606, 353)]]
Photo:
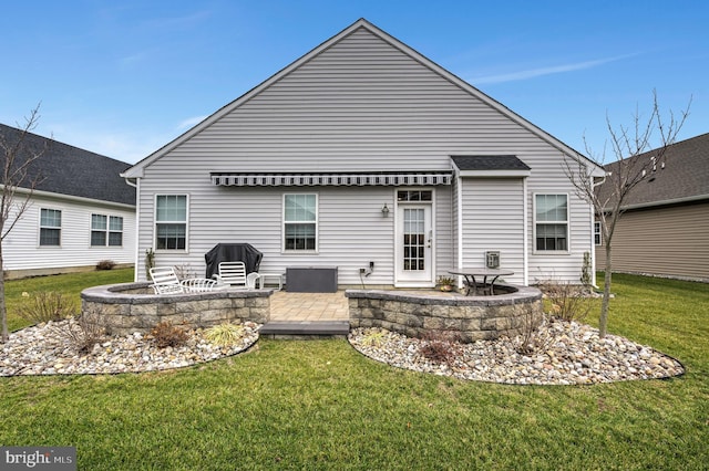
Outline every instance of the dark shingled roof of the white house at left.
[[(7, 143), (17, 143), (21, 133), (0, 124), (0, 138)], [(28, 168), (28, 181), (41, 179), (34, 188), (37, 191), (135, 206), (135, 188), (121, 178), (130, 164), (27, 133), (23, 148), (40, 151), (44, 146), (45, 153)], [(0, 165), (3, 158), (4, 155), (0, 155)]]

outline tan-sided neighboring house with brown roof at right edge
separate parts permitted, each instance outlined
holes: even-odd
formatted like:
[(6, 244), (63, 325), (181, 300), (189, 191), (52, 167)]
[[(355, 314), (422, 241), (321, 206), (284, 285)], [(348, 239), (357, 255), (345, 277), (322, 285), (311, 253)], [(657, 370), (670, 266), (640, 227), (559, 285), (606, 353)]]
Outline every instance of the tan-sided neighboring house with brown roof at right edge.
[[(623, 165), (656, 156), (657, 149), (650, 150)], [(613, 237), (614, 272), (709, 281), (709, 134), (669, 146), (661, 161), (648, 166), (623, 209)], [(596, 232), (596, 264), (603, 270), (598, 227)]]

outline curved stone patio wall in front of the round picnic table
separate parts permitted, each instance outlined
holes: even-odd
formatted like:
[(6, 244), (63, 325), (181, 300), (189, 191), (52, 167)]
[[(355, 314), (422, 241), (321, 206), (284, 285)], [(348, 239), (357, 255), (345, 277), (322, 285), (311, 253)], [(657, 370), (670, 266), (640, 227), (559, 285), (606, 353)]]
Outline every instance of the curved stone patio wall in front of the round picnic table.
[(462, 296), (411, 291), (347, 290), (350, 326), (381, 327), (409, 337), (458, 334), (462, 342), (517, 335), (542, 320), (542, 292), (507, 286), (507, 294)]

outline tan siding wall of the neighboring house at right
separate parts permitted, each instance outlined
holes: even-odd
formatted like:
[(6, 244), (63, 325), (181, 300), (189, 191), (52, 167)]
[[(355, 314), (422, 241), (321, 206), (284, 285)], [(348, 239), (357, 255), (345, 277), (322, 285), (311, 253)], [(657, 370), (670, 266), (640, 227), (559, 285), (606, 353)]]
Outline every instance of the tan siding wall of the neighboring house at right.
[[(596, 247), (598, 270), (605, 247)], [(613, 238), (613, 271), (709, 280), (709, 202), (625, 212)]]

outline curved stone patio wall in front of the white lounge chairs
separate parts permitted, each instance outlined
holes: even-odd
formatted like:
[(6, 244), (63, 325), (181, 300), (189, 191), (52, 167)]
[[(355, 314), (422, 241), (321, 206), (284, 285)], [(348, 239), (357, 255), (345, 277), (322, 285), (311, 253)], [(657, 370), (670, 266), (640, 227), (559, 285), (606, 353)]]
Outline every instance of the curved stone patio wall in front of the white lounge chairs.
[(150, 283), (123, 283), (82, 291), (81, 312), (109, 334), (147, 333), (161, 322), (209, 327), (226, 322), (265, 324), (271, 290), (152, 294)]

